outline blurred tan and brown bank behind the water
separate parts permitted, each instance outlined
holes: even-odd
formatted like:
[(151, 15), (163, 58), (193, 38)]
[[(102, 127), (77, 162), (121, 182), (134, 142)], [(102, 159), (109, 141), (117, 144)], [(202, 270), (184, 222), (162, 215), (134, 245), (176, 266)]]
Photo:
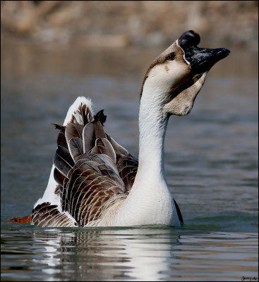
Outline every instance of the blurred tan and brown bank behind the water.
[(163, 47), (185, 30), (256, 51), (258, 1), (1, 1), (5, 40)]

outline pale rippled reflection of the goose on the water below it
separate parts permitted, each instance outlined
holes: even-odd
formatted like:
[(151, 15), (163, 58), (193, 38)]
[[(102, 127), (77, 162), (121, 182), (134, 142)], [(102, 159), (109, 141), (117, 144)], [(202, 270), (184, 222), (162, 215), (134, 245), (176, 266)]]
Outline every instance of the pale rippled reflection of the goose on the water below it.
[(171, 252), (178, 245), (176, 229), (51, 228), (35, 231), (35, 240), (46, 251), (40, 263), (55, 279), (165, 280)]

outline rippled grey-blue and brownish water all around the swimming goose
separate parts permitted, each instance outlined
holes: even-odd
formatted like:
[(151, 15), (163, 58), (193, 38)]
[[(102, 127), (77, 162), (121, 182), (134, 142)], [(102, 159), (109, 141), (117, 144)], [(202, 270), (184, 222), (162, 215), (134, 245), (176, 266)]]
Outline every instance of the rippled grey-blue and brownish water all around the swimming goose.
[[(255, 54), (210, 71), (191, 114), (172, 116), (165, 169), (185, 226), (39, 228), (7, 223), (42, 196), (63, 123), (79, 95), (138, 157), (138, 103), (162, 50), (5, 46), (1, 84), (1, 280), (258, 280), (258, 80)], [(246, 55), (246, 56), (245, 56)]]

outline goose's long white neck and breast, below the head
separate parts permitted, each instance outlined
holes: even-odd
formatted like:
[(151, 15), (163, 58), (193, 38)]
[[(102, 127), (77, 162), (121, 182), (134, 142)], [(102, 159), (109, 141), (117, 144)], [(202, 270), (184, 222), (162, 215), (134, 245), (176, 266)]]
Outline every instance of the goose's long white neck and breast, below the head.
[(128, 197), (119, 208), (119, 225), (179, 224), (164, 175), (164, 135), (168, 117), (163, 114), (159, 102), (161, 93), (156, 95), (154, 91), (152, 87), (143, 88), (138, 172)]

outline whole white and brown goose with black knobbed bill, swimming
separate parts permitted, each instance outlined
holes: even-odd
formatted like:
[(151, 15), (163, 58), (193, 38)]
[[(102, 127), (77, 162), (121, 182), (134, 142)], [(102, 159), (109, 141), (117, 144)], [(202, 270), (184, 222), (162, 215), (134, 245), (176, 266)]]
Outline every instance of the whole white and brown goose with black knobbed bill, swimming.
[(183, 226), (164, 174), (169, 116), (188, 114), (207, 71), (229, 50), (198, 48), (184, 32), (148, 68), (140, 93), (139, 156), (104, 132), (103, 111), (78, 97), (59, 130), (47, 189), (27, 220), (37, 226)]

